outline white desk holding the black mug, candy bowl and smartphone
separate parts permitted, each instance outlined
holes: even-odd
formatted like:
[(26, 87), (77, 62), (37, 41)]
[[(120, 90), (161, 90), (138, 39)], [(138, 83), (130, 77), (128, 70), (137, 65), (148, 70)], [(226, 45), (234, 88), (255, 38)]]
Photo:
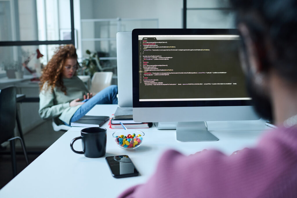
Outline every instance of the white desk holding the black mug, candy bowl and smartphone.
[[(87, 115), (111, 116), (116, 107), (96, 105)], [(142, 145), (133, 151), (126, 151), (119, 148), (112, 138), (112, 133), (117, 129), (108, 128), (108, 123), (102, 127), (108, 129), (105, 156), (129, 155), (140, 176), (115, 179), (111, 176), (105, 157), (92, 159), (72, 152), (70, 141), (80, 136), (82, 129), (72, 127), (4, 186), (0, 190), (0, 197), (116, 197), (128, 187), (144, 183), (153, 174), (160, 155), (168, 148), (174, 148), (185, 155), (215, 148), (229, 155), (233, 151), (255, 145), (263, 133), (255, 129), (268, 129), (263, 120), (209, 122), (210, 130), (221, 129), (212, 131), (219, 141), (177, 142), (175, 130), (157, 130), (152, 127), (140, 129), (145, 133)], [(74, 147), (82, 150), (79, 141), (75, 142)]]

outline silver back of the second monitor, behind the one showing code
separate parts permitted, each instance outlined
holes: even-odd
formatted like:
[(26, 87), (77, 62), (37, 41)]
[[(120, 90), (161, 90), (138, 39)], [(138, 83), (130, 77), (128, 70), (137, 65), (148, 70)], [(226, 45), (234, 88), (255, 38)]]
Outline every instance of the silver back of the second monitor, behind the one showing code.
[(132, 107), (132, 31), (116, 33), (116, 53), (119, 106)]

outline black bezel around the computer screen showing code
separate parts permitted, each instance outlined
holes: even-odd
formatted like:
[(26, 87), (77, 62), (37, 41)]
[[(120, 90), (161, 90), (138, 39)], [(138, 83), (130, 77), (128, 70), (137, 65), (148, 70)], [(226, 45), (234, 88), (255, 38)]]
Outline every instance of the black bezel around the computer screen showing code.
[(134, 29), (132, 31), (133, 107), (251, 106), (252, 100), (139, 101), (138, 35), (239, 35), (237, 29)]

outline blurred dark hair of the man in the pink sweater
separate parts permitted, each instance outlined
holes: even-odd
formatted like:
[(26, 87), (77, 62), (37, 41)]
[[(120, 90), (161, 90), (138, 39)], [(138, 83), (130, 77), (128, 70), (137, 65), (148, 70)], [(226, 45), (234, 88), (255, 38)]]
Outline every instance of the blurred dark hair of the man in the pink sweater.
[(236, 23), (244, 23), (265, 69), (297, 82), (297, 1), (230, 0)]

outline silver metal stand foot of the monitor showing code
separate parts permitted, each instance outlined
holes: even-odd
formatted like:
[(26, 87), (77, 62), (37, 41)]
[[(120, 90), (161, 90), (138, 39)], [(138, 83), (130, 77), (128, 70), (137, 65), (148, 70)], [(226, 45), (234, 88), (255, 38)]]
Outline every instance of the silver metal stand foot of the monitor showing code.
[(176, 140), (179, 142), (201, 142), (219, 139), (207, 130), (206, 122), (177, 122)]

